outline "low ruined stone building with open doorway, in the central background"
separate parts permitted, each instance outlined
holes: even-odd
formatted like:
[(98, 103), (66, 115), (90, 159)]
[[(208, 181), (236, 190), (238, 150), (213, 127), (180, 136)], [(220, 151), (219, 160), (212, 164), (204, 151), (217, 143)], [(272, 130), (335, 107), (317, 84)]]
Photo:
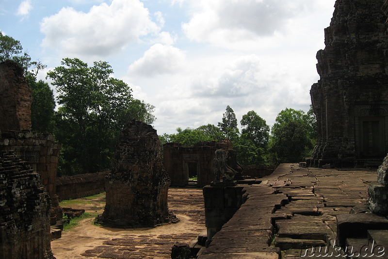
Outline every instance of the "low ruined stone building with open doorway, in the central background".
[(205, 186), (214, 180), (213, 159), (217, 149), (232, 148), (230, 141), (198, 142), (194, 146), (167, 143), (163, 146), (164, 167), (171, 178), (171, 185), (187, 185), (189, 177), (197, 176), (197, 184)]

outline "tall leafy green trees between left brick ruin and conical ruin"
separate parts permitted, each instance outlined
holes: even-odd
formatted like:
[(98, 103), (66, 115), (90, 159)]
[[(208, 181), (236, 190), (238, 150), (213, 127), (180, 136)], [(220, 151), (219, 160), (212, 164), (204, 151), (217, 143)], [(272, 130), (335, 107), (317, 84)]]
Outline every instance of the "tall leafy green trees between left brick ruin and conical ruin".
[(61, 105), (55, 135), (63, 144), (60, 165), (64, 175), (109, 169), (126, 119), (138, 119), (139, 114), (142, 119), (155, 119), (148, 114), (153, 106), (134, 100), (131, 88), (112, 78), (112, 73), (107, 62), (89, 67), (77, 58), (63, 59), (62, 66), (48, 73)]

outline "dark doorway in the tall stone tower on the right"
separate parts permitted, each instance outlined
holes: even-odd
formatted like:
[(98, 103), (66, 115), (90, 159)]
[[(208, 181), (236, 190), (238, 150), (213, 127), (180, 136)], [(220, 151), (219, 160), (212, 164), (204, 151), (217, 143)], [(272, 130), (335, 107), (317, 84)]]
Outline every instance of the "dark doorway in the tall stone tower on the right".
[(359, 120), (360, 155), (364, 158), (384, 156), (384, 117), (365, 117)]

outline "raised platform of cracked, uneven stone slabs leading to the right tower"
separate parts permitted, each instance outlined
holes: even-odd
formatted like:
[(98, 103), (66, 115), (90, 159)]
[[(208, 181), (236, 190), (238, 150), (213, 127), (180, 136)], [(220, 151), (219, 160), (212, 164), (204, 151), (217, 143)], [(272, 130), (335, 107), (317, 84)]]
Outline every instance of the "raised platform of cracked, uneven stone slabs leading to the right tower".
[(311, 255), (306, 249), (337, 247), (337, 216), (365, 208), (376, 171), (281, 164), (260, 180), (244, 185), (248, 199), (199, 259), (343, 258), (343, 252)]

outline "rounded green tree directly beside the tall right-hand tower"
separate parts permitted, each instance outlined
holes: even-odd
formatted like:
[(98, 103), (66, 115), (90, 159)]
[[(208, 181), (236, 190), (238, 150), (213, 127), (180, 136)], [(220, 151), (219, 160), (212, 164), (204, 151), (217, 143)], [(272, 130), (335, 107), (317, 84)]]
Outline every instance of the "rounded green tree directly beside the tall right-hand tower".
[(289, 108), (277, 115), (269, 145), (272, 164), (300, 162), (309, 155), (313, 144), (308, 135), (307, 117), (303, 111)]

